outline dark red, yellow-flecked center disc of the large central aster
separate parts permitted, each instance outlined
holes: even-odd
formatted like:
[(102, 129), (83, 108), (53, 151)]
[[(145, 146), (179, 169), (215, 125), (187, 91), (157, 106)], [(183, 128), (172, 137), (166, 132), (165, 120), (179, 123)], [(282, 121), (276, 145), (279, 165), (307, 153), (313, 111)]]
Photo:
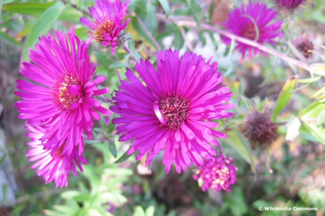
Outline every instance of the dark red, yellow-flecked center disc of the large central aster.
[(189, 99), (179, 95), (162, 96), (158, 100), (158, 106), (169, 129), (179, 129), (189, 115)]

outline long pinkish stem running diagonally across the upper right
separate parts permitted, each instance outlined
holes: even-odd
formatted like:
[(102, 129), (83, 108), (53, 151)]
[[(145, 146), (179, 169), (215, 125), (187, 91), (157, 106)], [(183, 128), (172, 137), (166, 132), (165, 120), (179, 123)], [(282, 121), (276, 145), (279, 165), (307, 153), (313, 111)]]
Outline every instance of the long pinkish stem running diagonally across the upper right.
[[(188, 28), (197, 28), (197, 24), (194, 20), (181, 20), (179, 19), (179, 17), (172, 17), (172, 16), (169, 16), (168, 18), (165, 18), (165, 15), (163, 14), (156, 14), (156, 17), (159, 19), (159, 20), (163, 20), (163, 21), (167, 21), (169, 23), (175, 23), (177, 24), (178, 26), (185, 26), (185, 27), (188, 27)], [(309, 70), (309, 67), (307, 64), (301, 62), (301, 61), (298, 61), (296, 59), (293, 59), (293, 58), (290, 58), (282, 53), (279, 53), (278, 51), (275, 51), (273, 49), (270, 49), (260, 43), (257, 43), (253, 40), (248, 40), (246, 38), (243, 38), (243, 37), (240, 37), (238, 35), (235, 35), (235, 34), (232, 34), (230, 32), (227, 32), (225, 30), (222, 30), (222, 29), (219, 29), (219, 28), (216, 28), (214, 26), (211, 26), (211, 25), (208, 25), (208, 24), (204, 24), (202, 23), (201, 25), (201, 28), (202, 29), (207, 29), (207, 30), (211, 30), (211, 31), (214, 31), (214, 32), (217, 32), (221, 35), (224, 35), (230, 39), (234, 39), (234, 40), (237, 40), (239, 42), (242, 42), (242, 43), (245, 43), (247, 45), (250, 45), (252, 47), (256, 47), (258, 48), (259, 50), (262, 50), (262, 51), (265, 51), (271, 55), (274, 55), (276, 57), (278, 57), (279, 59), (282, 59), (288, 63), (292, 63), (298, 67), (301, 67), (305, 70)]]

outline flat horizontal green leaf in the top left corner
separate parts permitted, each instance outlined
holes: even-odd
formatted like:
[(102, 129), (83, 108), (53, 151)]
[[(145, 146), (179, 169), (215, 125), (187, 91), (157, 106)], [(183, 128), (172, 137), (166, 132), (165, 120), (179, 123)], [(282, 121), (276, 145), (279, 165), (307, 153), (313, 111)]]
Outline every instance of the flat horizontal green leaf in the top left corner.
[(55, 5), (56, 2), (36, 3), (36, 2), (24, 2), (24, 3), (11, 3), (3, 5), (2, 9), (12, 13), (19, 13), (29, 15), (33, 17), (41, 16), (46, 9)]

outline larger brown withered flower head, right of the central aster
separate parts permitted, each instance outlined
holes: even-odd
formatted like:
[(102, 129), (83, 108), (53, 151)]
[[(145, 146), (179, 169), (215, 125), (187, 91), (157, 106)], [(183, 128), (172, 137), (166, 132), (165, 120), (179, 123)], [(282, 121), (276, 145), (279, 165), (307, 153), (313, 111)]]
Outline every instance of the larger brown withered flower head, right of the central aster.
[(240, 131), (251, 142), (252, 148), (260, 145), (265, 147), (274, 142), (277, 138), (277, 125), (269, 118), (269, 110), (263, 112), (253, 110), (244, 121)]

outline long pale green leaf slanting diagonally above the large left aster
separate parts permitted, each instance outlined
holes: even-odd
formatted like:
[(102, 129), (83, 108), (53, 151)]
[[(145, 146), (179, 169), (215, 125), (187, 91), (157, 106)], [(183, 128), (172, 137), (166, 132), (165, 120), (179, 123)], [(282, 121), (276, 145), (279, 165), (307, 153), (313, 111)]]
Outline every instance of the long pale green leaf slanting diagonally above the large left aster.
[(46, 34), (50, 29), (52, 23), (57, 20), (65, 6), (61, 2), (57, 2), (55, 5), (49, 7), (37, 20), (32, 28), (31, 34), (26, 40), (25, 47), (22, 53), (22, 61), (27, 60), (28, 49), (34, 47), (38, 38)]

